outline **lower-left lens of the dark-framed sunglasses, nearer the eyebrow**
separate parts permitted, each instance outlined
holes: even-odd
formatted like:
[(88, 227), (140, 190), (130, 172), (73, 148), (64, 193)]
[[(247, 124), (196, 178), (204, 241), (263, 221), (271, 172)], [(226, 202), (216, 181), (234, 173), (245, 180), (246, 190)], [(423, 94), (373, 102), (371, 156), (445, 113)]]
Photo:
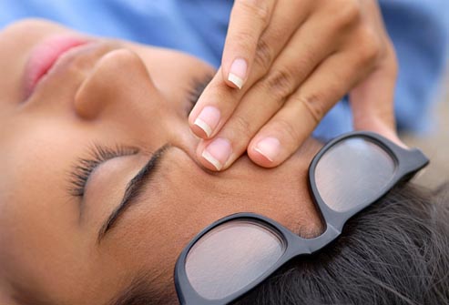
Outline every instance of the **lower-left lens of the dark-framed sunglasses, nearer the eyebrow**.
[(285, 245), (270, 228), (248, 219), (223, 223), (204, 235), (186, 259), (189, 282), (201, 297), (222, 300), (258, 279)]

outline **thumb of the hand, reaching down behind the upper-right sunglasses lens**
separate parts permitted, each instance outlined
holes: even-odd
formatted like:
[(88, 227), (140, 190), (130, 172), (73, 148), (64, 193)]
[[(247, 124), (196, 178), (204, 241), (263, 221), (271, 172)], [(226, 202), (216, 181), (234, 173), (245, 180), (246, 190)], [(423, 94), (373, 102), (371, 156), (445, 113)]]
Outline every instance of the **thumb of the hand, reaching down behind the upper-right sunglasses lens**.
[(371, 130), (403, 145), (395, 132), (393, 100), (396, 77), (397, 62), (390, 45), (380, 65), (351, 90), (350, 102), (355, 129)]

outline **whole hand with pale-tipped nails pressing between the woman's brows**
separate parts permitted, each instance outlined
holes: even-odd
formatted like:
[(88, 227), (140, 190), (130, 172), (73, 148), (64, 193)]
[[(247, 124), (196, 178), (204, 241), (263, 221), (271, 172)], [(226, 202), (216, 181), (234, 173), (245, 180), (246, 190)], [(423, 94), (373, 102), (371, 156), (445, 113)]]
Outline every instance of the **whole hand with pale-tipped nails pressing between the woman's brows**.
[(221, 67), (190, 113), (200, 162), (280, 165), (349, 93), (355, 129), (394, 131), (393, 45), (375, 0), (236, 0)]

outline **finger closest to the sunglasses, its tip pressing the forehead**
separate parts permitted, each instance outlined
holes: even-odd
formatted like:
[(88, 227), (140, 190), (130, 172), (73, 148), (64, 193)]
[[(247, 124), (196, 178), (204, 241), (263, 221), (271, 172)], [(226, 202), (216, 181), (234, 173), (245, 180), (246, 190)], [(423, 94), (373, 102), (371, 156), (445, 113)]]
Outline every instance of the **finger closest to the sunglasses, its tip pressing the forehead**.
[(317, 67), (250, 141), (248, 155), (253, 162), (273, 168), (301, 146), (321, 118), (362, 76), (363, 62), (354, 63), (356, 57), (353, 52), (336, 53)]

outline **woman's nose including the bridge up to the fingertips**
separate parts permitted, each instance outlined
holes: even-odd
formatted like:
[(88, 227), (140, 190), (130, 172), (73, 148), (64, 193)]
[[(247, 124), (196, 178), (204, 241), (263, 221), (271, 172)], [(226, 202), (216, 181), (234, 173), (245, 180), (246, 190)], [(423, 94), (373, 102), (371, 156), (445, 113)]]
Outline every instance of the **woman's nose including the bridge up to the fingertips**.
[(109, 134), (123, 131), (127, 142), (138, 140), (142, 147), (170, 143), (194, 156), (198, 140), (189, 133), (187, 116), (179, 117), (176, 104), (155, 86), (151, 72), (158, 71), (150, 71), (132, 50), (107, 53), (77, 90), (77, 116), (107, 127)]

